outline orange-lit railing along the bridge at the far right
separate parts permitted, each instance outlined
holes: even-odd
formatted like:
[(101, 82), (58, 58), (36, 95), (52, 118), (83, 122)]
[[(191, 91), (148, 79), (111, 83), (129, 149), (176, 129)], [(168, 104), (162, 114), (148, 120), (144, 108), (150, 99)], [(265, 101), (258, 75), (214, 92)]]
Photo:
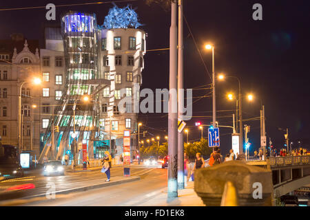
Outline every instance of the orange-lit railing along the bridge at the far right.
[(310, 164), (310, 155), (268, 157), (270, 166), (298, 166)]

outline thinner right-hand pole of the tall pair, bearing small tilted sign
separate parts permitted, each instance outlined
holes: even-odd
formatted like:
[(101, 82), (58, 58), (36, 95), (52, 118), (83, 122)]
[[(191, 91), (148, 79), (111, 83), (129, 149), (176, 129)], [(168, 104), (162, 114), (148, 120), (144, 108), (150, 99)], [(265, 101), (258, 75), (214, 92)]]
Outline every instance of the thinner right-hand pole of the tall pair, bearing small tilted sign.
[[(178, 118), (183, 120), (183, 0), (178, 0)], [(178, 132), (178, 189), (184, 188), (184, 141)]]

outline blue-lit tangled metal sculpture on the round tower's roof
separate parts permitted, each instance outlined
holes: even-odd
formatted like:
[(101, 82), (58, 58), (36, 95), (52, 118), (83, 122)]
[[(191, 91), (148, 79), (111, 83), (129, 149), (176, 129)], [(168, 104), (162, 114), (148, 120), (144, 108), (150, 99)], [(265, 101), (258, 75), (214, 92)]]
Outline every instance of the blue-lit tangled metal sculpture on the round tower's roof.
[(113, 8), (110, 8), (109, 13), (105, 17), (105, 21), (101, 28), (138, 28), (141, 23), (138, 22), (138, 14), (132, 9), (130, 5), (125, 8), (118, 8), (114, 4)]

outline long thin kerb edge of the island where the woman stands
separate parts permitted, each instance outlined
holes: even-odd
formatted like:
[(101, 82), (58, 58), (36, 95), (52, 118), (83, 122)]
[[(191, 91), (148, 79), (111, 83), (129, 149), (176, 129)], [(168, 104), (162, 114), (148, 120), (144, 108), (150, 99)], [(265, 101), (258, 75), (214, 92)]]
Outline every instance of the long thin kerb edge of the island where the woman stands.
[[(129, 183), (131, 181), (138, 181), (140, 179), (141, 179), (140, 177), (130, 177), (130, 179), (121, 179), (121, 180), (116, 180), (116, 181), (104, 182), (102, 184), (94, 184), (94, 185), (89, 185), (89, 186), (81, 186), (81, 187), (76, 187), (76, 188), (70, 188), (67, 190), (59, 190), (59, 191), (56, 191), (54, 193), (56, 195), (56, 194), (68, 194), (70, 192), (83, 192), (83, 191), (92, 190), (95, 188), (103, 188), (103, 187), (107, 187), (107, 186), (125, 184), (125, 183)], [(24, 197), (23, 199), (30, 199), (30, 198), (34, 198), (34, 197), (43, 197), (45, 195), (46, 195), (46, 193), (42, 193), (39, 195), (32, 195), (30, 197)]]

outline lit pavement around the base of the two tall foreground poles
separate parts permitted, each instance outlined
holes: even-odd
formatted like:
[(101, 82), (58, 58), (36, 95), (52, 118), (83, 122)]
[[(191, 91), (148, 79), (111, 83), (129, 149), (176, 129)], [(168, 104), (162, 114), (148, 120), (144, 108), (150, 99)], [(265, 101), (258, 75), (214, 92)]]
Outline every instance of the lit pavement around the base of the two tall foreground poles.
[(189, 181), (185, 189), (178, 190), (177, 198), (168, 199), (167, 188), (163, 188), (134, 199), (125, 206), (205, 206), (205, 204), (194, 191), (194, 181)]

